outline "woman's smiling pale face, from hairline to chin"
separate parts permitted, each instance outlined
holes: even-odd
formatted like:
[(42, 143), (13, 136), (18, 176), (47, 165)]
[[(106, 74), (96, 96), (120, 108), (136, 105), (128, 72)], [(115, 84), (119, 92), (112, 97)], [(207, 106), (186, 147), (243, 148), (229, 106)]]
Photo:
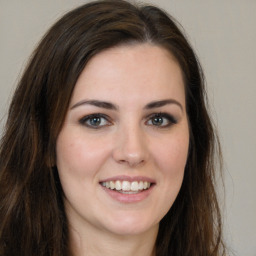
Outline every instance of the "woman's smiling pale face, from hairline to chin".
[(93, 57), (57, 139), (70, 225), (157, 232), (180, 190), (188, 145), (182, 73), (168, 51), (137, 44)]

